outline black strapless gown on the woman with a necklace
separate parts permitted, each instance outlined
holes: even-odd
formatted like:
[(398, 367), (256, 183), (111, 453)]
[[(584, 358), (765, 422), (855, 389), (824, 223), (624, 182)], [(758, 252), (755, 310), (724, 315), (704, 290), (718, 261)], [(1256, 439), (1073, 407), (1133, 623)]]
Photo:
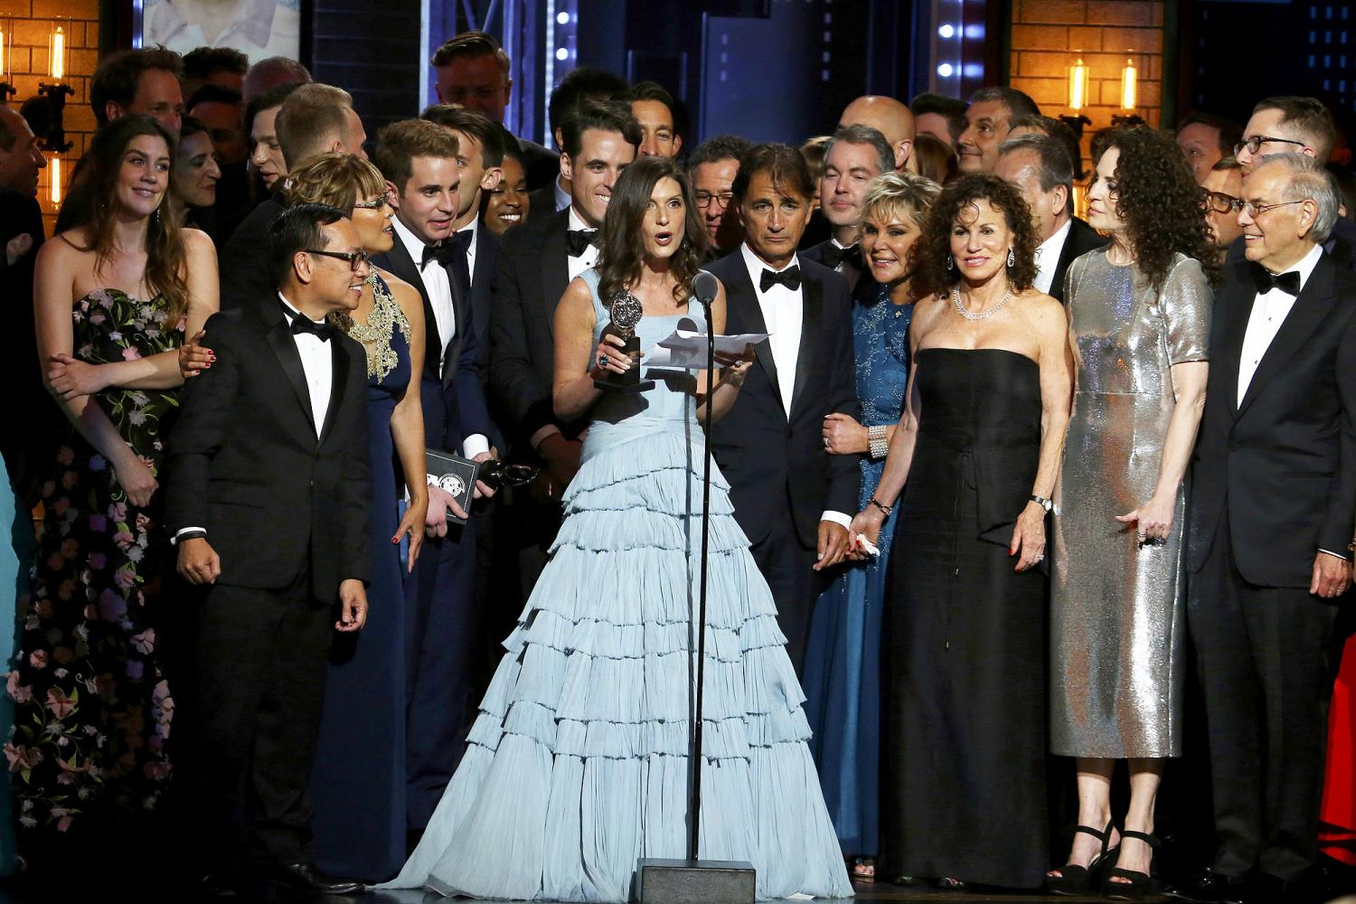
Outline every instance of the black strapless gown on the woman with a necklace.
[(1040, 367), (917, 355), (918, 440), (885, 602), (885, 876), (1032, 888), (1047, 869), (1045, 579), (1008, 554), (1040, 451)]

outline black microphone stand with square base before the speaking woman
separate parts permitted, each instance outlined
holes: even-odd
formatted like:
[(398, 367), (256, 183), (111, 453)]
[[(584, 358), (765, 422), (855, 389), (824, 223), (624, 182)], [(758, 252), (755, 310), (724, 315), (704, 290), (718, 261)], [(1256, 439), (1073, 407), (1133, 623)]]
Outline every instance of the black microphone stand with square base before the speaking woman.
[(697, 699), (693, 709), (692, 755), (689, 756), (687, 859), (641, 858), (636, 865), (636, 899), (640, 904), (701, 901), (702, 904), (753, 904), (757, 876), (753, 863), (743, 861), (702, 861), (701, 843), (701, 767), (702, 705), (706, 684), (706, 572), (711, 553), (711, 397), (716, 384), (716, 328), (711, 304), (720, 283), (700, 271), (693, 281), (692, 297), (706, 316), (706, 416), (701, 440), (701, 588), (697, 594)]

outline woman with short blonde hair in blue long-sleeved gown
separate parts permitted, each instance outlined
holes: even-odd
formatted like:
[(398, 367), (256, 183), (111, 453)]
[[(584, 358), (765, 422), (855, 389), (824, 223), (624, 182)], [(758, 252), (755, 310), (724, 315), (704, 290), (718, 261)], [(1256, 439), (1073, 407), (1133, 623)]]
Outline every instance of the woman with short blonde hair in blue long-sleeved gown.
[[(873, 279), (857, 283), (853, 350), (862, 420), (824, 419), (829, 449), (862, 455), (857, 508), (876, 492), (884, 454), (872, 455), (868, 431), (894, 432), (909, 384), (910, 249), (923, 211), (941, 186), (911, 173), (872, 180), (862, 205), (862, 260)], [(877, 434), (881, 432), (877, 430)], [(876, 443), (881, 451), (883, 443)], [(805, 655), (810, 749), (854, 878), (875, 877), (880, 760), (880, 611), (895, 518), (880, 530), (880, 556), (849, 562), (819, 596)]]

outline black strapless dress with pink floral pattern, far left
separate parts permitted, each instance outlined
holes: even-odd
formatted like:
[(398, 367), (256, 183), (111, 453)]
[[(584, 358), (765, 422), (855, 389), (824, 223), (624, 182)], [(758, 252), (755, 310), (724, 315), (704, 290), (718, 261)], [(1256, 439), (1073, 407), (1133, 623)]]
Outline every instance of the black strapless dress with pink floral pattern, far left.
[[(75, 304), (75, 356), (103, 365), (179, 347), (163, 297), (115, 289)], [(178, 390), (94, 396), (157, 472)], [(19, 600), (19, 655), (7, 676), (15, 724), (4, 747), (20, 832), (65, 832), (89, 813), (145, 813), (168, 785), (174, 701), (156, 661), (151, 609), (165, 568), (159, 495), (133, 506), (113, 465), (73, 428), (42, 489), (33, 595)]]

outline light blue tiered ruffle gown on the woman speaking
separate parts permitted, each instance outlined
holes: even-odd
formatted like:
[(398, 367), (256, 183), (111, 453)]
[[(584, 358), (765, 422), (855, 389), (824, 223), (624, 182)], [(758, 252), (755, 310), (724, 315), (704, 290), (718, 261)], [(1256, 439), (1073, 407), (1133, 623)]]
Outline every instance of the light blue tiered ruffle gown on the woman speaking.
[[(601, 332), (597, 274), (584, 279)], [(641, 348), (677, 323), (641, 320)], [(551, 562), (389, 888), (626, 901), (639, 858), (686, 855), (702, 435), (692, 375), (645, 377), (654, 389), (594, 407)], [(804, 695), (715, 466), (711, 512), (700, 855), (751, 862), (759, 899), (850, 896)]]

